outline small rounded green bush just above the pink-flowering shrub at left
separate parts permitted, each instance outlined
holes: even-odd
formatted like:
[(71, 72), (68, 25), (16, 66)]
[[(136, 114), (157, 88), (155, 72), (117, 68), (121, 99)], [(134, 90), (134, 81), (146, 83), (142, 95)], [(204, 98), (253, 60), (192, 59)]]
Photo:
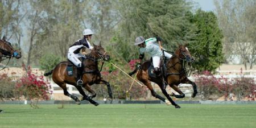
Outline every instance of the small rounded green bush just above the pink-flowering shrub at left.
[(40, 68), (45, 71), (50, 71), (53, 69), (58, 63), (60, 63), (61, 57), (53, 54), (46, 54), (41, 57), (39, 60)]

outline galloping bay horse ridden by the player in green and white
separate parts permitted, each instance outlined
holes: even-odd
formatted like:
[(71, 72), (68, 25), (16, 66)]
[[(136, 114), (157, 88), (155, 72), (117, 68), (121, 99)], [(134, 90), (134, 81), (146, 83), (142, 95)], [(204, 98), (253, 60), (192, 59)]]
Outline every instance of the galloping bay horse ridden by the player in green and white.
[[(150, 60), (144, 61), (142, 63), (141, 69), (139, 69), (137, 73), (137, 79), (143, 82), (143, 84), (146, 85), (148, 89), (150, 89), (152, 96), (158, 98), (163, 102), (166, 102), (167, 105), (170, 105), (170, 102), (171, 102), (171, 104), (174, 105), (175, 108), (180, 108), (180, 106), (177, 105), (170, 96), (174, 96), (176, 98), (185, 97), (185, 94), (181, 92), (181, 90), (177, 86), (181, 83), (191, 84), (193, 86), (192, 97), (196, 96), (197, 94), (196, 84), (195, 82), (192, 82), (191, 80), (188, 79), (185, 72), (185, 63), (187, 61), (192, 62), (193, 60), (194, 59), (191, 56), (190, 52), (188, 51), (188, 48), (183, 45), (179, 45), (179, 47), (176, 49), (172, 57), (166, 63), (166, 75), (164, 75), (165, 76), (164, 81), (166, 81), (167, 84), (170, 85), (171, 88), (173, 88), (180, 95), (176, 95), (174, 93), (171, 93), (169, 95), (166, 89), (164, 88), (165, 85), (162, 81), (163, 78), (159, 79), (159, 78), (150, 77), (148, 75), (148, 68), (150, 68), (150, 65), (151, 65)], [(162, 61), (162, 63), (164, 62)], [(137, 68), (133, 72), (129, 73), (129, 75), (133, 75), (136, 71), (137, 71)], [(168, 102), (165, 98), (163, 98), (162, 96), (159, 96), (159, 94), (155, 92), (155, 90), (151, 85), (151, 81), (158, 84), (158, 86), (162, 90), (162, 93), (164, 94), (164, 96), (167, 97), (168, 101), (170, 102)]]

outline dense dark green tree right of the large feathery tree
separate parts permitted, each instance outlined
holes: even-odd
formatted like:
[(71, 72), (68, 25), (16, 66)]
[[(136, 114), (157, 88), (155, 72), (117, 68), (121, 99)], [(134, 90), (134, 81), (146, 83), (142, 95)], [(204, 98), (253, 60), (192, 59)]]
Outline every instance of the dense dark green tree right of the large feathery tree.
[(197, 36), (189, 44), (189, 50), (196, 59), (193, 67), (197, 72), (214, 71), (224, 61), (223, 35), (217, 18), (212, 12), (197, 10), (192, 22), (197, 26)]

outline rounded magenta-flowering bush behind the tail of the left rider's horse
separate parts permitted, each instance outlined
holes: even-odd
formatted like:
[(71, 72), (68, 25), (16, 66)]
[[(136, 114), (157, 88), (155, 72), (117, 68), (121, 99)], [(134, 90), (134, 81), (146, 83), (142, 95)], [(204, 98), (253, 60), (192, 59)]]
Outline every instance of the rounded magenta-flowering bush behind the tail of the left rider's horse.
[[(24, 65), (23, 65), (23, 69)], [(31, 67), (27, 67), (27, 72), (16, 83), (15, 89), (19, 92), (20, 96), (25, 96), (28, 100), (34, 98), (49, 100), (49, 90), (51, 86), (48, 81), (44, 80), (42, 75), (38, 76), (31, 72)]]

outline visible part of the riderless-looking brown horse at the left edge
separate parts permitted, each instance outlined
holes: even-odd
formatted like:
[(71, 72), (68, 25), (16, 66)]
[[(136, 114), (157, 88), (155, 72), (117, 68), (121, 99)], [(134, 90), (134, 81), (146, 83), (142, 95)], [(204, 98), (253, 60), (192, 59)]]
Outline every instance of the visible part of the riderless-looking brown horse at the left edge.
[(13, 46), (11, 46), (11, 43), (7, 42), (5, 40), (5, 36), (3, 36), (3, 38), (0, 40), (0, 63), (2, 60), (5, 60), (5, 59), (10, 60), (13, 57), (15, 57), (16, 59), (19, 59), (22, 56), (20, 51), (15, 50)]

